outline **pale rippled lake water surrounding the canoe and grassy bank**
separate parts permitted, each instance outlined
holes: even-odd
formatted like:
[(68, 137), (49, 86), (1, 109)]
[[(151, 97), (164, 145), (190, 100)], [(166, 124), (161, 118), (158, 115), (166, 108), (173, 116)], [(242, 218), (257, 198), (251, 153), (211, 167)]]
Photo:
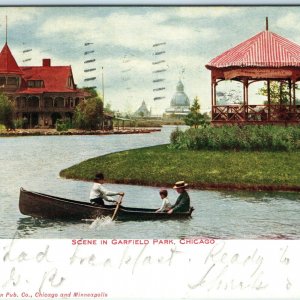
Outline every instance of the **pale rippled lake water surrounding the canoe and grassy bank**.
[[(165, 144), (172, 126), (161, 132), (106, 136), (0, 138), (1, 238), (180, 238), (299, 239), (299, 193), (190, 190), (193, 218), (183, 221), (48, 221), (20, 214), (20, 187), (88, 201), (92, 183), (66, 180), (60, 170), (103, 154)], [(178, 178), (181, 180), (182, 178)], [(183, 178), (184, 179), (184, 178)], [(124, 191), (123, 204), (160, 207), (158, 188), (107, 184)], [(177, 194), (169, 189), (169, 199)]]

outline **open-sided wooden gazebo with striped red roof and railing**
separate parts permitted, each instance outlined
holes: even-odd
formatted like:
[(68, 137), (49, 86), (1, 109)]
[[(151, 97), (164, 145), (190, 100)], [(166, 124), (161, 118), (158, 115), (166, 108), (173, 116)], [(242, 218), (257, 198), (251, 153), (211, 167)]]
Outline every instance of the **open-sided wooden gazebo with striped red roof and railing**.
[[(211, 70), (211, 117), (215, 124), (287, 124), (300, 123), (300, 105), (296, 103), (296, 83), (300, 80), (300, 46), (268, 30), (225, 51), (212, 59), (206, 68)], [(217, 86), (225, 80), (242, 84), (240, 105), (217, 105)], [(258, 81), (267, 83), (267, 103), (249, 105), (249, 86)], [(270, 83), (288, 85), (288, 103), (271, 103)]]

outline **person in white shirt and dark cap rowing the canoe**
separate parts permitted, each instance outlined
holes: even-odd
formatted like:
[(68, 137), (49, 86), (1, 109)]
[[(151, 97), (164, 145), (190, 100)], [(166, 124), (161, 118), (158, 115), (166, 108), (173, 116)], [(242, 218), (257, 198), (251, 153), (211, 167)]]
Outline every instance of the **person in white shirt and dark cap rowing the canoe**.
[(112, 192), (103, 186), (104, 175), (97, 173), (94, 177), (94, 184), (90, 192), (90, 201), (93, 204), (105, 205), (104, 200), (108, 202), (116, 202), (111, 196), (124, 196), (123, 192)]

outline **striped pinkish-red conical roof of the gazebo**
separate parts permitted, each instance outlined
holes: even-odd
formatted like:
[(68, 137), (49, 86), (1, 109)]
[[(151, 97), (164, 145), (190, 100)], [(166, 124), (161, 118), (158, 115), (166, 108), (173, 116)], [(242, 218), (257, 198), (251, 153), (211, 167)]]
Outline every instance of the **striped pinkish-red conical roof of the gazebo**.
[(300, 46), (271, 31), (262, 31), (212, 59), (206, 67), (299, 67)]

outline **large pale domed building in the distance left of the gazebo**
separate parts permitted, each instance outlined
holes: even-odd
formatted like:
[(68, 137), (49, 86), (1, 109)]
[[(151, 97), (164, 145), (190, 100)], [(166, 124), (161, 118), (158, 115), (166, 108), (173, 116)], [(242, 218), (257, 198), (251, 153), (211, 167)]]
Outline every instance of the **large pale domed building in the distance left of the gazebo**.
[(186, 116), (190, 111), (190, 100), (184, 92), (184, 85), (181, 80), (176, 86), (176, 93), (172, 97), (170, 107), (166, 109), (166, 115), (174, 115), (177, 117)]

